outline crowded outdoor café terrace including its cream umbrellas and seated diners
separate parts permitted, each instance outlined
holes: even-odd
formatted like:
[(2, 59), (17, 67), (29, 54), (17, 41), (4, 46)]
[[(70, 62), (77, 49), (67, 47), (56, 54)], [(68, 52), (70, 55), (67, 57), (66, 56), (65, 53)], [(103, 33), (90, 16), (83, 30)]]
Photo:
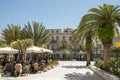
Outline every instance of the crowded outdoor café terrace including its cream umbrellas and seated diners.
[[(0, 74), (1, 76), (24, 76), (46, 72), (54, 68), (57, 60), (52, 60), (43, 54), (53, 53), (52, 50), (32, 46), (26, 50), (26, 58), (18, 50), (11, 47), (0, 48)], [(31, 54), (31, 55), (29, 55)]]

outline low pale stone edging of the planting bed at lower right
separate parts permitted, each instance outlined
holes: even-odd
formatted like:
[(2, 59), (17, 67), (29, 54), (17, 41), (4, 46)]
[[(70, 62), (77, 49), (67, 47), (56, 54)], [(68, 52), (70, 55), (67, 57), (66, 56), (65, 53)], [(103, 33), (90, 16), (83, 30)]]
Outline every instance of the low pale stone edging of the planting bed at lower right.
[(89, 66), (89, 68), (94, 71), (95, 73), (97, 73), (100, 77), (102, 77), (104, 80), (120, 80), (120, 78), (118, 78), (115, 75), (112, 75), (100, 68), (97, 68), (95, 66)]

